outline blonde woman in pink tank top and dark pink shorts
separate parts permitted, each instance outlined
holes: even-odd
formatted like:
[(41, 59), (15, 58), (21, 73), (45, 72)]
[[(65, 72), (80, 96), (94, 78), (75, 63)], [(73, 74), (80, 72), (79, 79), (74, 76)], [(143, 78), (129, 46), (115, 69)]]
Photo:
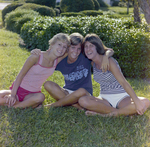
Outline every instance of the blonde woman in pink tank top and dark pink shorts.
[(34, 108), (44, 101), (41, 86), (65, 56), (70, 38), (67, 34), (59, 33), (49, 41), (49, 45), (49, 49), (40, 56), (31, 55), (26, 60), (10, 90), (0, 91), (0, 105)]

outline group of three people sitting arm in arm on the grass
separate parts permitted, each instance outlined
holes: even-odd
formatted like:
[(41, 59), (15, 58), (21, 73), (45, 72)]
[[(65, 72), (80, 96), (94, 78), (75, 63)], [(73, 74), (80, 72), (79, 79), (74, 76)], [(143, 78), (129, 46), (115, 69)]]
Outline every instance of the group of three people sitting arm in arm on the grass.
[[(82, 45), (86, 57), (81, 53)], [(113, 50), (106, 48), (96, 34), (88, 34), (83, 40), (79, 33), (70, 37), (59, 33), (50, 40), (47, 51), (32, 51), (11, 90), (0, 91), (0, 105), (37, 107), (45, 99), (41, 86), (56, 68), (63, 74), (65, 86), (61, 88), (52, 81), (45, 82), (44, 88), (56, 99), (45, 107), (72, 105), (85, 108), (86, 115), (142, 115), (150, 101), (136, 96), (112, 55)], [(93, 96), (91, 65), (94, 80), (100, 84), (97, 98)]]

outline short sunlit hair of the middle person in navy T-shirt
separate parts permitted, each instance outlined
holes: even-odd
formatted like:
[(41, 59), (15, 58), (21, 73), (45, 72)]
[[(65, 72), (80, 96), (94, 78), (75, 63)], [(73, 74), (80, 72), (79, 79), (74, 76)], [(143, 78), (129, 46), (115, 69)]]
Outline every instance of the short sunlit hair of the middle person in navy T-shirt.
[(72, 33), (70, 35), (71, 45), (78, 45), (83, 43), (83, 36), (80, 33)]

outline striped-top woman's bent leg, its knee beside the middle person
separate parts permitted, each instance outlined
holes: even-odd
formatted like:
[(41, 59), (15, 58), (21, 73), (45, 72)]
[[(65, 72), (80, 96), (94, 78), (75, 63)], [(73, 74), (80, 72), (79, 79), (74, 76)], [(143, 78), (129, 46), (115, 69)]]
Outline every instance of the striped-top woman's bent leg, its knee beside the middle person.
[(90, 110), (86, 112), (87, 115), (95, 115), (98, 113), (108, 114), (110, 112), (116, 111), (115, 108), (110, 106), (108, 101), (104, 99), (95, 98), (94, 96), (83, 96), (79, 99), (78, 103), (83, 108)]

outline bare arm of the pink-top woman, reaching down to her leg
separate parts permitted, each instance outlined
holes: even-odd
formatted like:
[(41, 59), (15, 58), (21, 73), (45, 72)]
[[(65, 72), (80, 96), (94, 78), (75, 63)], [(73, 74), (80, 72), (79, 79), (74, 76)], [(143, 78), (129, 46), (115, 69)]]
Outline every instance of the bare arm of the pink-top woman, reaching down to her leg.
[(18, 90), (18, 87), (20, 86), (22, 79), (24, 78), (24, 76), (26, 75), (26, 73), (29, 71), (29, 69), (37, 63), (38, 61), (38, 56), (36, 55), (31, 55), (25, 62), (25, 64), (23, 65), (21, 71), (19, 72), (19, 74), (16, 77), (16, 80), (14, 82), (13, 88), (11, 90), (11, 96), (9, 97), (7, 103), (9, 104), (9, 106), (12, 106), (15, 102), (16, 102), (16, 93)]

